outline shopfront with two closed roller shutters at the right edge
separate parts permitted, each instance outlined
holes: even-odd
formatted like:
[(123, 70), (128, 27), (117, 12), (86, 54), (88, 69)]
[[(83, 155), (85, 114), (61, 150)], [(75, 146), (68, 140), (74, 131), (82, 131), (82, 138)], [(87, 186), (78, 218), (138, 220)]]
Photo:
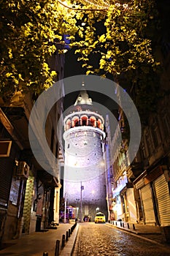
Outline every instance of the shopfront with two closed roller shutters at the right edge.
[(144, 224), (170, 225), (168, 167), (158, 165), (150, 173), (145, 170), (134, 181), (134, 188), (139, 190)]

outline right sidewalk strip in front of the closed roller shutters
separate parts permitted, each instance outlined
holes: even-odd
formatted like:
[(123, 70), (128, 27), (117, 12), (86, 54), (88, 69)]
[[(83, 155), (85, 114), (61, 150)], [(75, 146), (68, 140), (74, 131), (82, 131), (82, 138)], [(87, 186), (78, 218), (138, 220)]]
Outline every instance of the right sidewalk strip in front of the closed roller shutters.
[(165, 241), (163, 234), (161, 233), (161, 228), (159, 226), (116, 221), (112, 221), (112, 224), (107, 223), (107, 225), (109, 225), (110, 227), (125, 230), (126, 232), (134, 233), (135, 235), (140, 236), (145, 240), (152, 241), (155, 244), (163, 244), (170, 247), (170, 244)]

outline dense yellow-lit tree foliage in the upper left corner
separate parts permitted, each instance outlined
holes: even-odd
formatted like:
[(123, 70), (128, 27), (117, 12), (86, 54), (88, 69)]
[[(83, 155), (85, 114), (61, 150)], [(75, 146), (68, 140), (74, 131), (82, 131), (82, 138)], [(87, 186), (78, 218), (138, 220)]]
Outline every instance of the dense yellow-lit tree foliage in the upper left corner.
[(0, 17), (0, 93), (47, 89), (57, 75), (47, 58), (77, 32), (76, 20), (53, 0), (1, 0)]

